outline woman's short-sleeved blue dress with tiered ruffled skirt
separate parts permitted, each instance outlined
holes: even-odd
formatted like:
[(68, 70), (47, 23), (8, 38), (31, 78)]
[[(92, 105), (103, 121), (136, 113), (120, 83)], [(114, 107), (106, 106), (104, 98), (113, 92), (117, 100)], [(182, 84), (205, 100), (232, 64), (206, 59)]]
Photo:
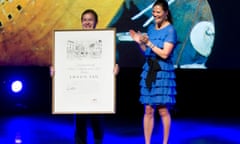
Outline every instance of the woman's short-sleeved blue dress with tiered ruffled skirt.
[[(177, 43), (177, 34), (171, 24), (160, 30), (156, 30), (154, 25), (149, 26), (148, 36), (149, 40), (158, 48), (163, 48), (164, 42), (171, 42), (175, 45)], [(172, 54), (168, 59), (164, 60), (152, 52), (151, 48), (147, 48), (145, 51), (146, 62), (142, 67), (143, 71), (140, 80), (139, 101), (142, 104), (171, 107), (176, 103), (176, 75)], [(160, 70), (156, 72), (155, 81), (151, 82), (150, 87), (146, 84), (150, 69), (148, 59), (157, 59), (160, 66)]]

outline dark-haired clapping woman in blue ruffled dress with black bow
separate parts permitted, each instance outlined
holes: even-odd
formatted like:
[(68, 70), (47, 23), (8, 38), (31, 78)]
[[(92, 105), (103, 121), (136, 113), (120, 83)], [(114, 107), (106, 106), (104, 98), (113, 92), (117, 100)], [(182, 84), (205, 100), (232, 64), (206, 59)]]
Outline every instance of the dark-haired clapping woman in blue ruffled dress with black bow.
[(154, 110), (157, 109), (163, 124), (163, 144), (168, 143), (171, 116), (169, 109), (176, 103), (176, 82), (173, 50), (177, 43), (176, 30), (168, 3), (157, 0), (152, 7), (154, 24), (147, 34), (129, 30), (131, 37), (144, 52), (146, 62), (141, 73), (140, 102), (145, 105), (143, 117), (145, 143), (150, 144), (154, 127)]

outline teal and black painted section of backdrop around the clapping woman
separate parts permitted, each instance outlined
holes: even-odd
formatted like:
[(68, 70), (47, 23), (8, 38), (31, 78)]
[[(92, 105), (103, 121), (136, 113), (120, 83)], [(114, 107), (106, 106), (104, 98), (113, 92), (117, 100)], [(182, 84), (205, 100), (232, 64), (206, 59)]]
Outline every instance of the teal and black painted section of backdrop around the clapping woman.
[[(123, 67), (139, 67), (144, 61), (128, 33), (129, 29), (146, 32), (148, 26), (153, 24), (153, 1), (144, 2), (125, 1), (121, 17), (111, 25), (117, 27), (119, 61)], [(215, 40), (215, 21), (208, 1), (169, 0), (168, 3), (178, 34), (174, 64), (179, 68), (207, 68), (206, 62)]]

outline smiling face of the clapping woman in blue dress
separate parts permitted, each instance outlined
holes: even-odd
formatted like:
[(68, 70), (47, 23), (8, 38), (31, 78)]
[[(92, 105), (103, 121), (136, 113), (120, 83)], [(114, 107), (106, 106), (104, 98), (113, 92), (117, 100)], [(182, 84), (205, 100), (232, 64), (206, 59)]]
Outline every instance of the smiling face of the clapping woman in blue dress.
[(168, 13), (164, 11), (160, 5), (155, 5), (152, 9), (152, 16), (156, 24), (161, 24), (163, 21), (167, 20), (167, 14)]

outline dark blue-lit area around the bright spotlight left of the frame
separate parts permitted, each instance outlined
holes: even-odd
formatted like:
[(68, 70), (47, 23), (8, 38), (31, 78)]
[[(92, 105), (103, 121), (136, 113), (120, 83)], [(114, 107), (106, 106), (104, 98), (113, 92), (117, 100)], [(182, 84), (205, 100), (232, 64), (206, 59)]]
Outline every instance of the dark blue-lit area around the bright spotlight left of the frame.
[[(11, 91), (11, 83), (20, 80), (20, 93)], [(1, 66), (0, 112), (3, 114), (50, 113), (52, 86), (48, 67)]]

